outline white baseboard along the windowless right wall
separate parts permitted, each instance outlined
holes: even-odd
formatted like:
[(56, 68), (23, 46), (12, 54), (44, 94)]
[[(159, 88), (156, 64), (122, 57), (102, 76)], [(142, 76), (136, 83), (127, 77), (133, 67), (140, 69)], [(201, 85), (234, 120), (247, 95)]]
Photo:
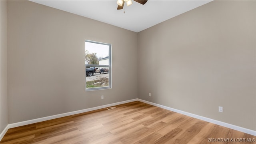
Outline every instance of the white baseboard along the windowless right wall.
[(167, 107), (167, 106), (163, 106), (163, 105), (160, 105), (160, 104), (156, 104), (156, 103), (153, 103), (153, 102), (148, 102), (146, 100), (141, 100), (141, 99), (138, 99), (138, 101), (140, 102), (144, 102), (146, 104), (150, 104), (150, 105), (153, 105), (153, 106), (157, 106), (157, 107), (160, 107), (160, 108), (164, 108), (166, 110), (170, 110), (170, 111), (173, 111), (173, 112), (177, 112), (177, 113), (180, 113), (180, 114), (184, 114), (186, 116), (190, 116), (192, 118), (197, 118), (199, 120), (204, 120), (206, 122), (210, 122), (210, 123), (213, 123), (213, 124), (218, 124), (220, 126), (224, 126), (226, 128), (231, 128), (233, 130), (238, 130), (240, 132), (244, 132), (246, 134), (251, 134), (253, 136), (256, 136), (256, 131), (254, 130), (250, 130), (250, 129), (247, 129), (247, 128), (242, 128), (240, 126), (235, 126), (233, 124), (228, 124), (226, 122), (221, 122), (221, 121), (218, 121), (218, 120), (213, 120), (211, 118), (206, 118), (206, 117), (203, 117), (203, 116), (198, 116), (196, 114), (191, 114), (189, 112), (184, 112), (182, 110), (177, 110), (177, 109), (174, 109), (174, 108), (170, 108), (170, 107)]

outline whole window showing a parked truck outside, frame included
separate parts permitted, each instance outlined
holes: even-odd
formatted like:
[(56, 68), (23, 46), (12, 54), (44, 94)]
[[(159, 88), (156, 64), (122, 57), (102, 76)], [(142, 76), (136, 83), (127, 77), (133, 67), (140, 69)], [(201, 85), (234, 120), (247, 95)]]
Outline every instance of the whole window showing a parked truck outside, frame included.
[(86, 91), (111, 88), (111, 44), (85, 41)]

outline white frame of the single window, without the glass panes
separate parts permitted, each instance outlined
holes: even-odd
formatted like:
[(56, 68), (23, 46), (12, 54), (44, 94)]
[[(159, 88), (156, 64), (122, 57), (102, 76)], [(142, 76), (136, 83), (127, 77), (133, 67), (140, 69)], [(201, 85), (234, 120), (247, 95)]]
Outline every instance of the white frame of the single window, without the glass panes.
[[(107, 45), (109, 47), (108, 49), (108, 65), (98, 65), (98, 64), (85, 64), (85, 70), (86, 67), (108, 67), (108, 86), (102, 86), (102, 87), (97, 87), (97, 88), (86, 88), (86, 78), (85, 78), (85, 91), (92, 91), (92, 90), (105, 90), (105, 89), (111, 89), (112, 88), (112, 68), (111, 68), (111, 44), (103, 43), (103, 42), (95, 42), (91, 40), (85, 40), (85, 42), (91, 42), (94, 44), (103, 44)], [(86, 50), (86, 48), (85, 48)], [(86, 71), (85, 71), (85, 77), (86, 77)]]

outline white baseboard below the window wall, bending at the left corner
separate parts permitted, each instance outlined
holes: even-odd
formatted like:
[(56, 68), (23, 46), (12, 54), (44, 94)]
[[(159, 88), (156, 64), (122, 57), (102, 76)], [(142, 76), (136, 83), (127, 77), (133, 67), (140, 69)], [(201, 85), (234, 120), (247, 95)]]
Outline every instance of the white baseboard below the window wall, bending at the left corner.
[(77, 111), (74, 111), (74, 112), (67, 112), (67, 113), (64, 113), (64, 114), (57, 114), (57, 115), (54, 115), (54, 116), (46, 116), (46, 117), (43, 117), (43, 118), (36, 118), (36, 119), (33, 119), (33, 120), (26, 120), (26, 121), (23, 121), (23, 122), (16, 122), (16, 123), (13, 123), (13, 124), (8, 124), (6, 126), (6, 128), (3, 130), (3, 132), (1, 133), (0, 140), (2, 140), (2, 138), (4, 137), (4, 134), (6, 134), (6, 132), (9, 128), (15, 128), (15, 127), (18, 127), (18, 126), (25, 126), (25, 125), (28, 125), (28, 124), (34, 124), (36, 122), (52, 120), (52, 119), (61, 118), (61, 117), (64, 117), (64, 116), (71, 116), (71, 115), (80, 114), (80, 113), (83, 113), (83, 112), (90, 112), (92, 110), (98, 110), (98, 109), (101, 109), (101, 108), (108, 108), (108, 107), (111, 107), (111, 106), (116, 106), (116, 105), (119, 105), (119, 104), (125, 104), (125, 103), (128, 103), (128, 102), (135, 102), (135, 101), (138, 101), (138, 99), (136, 98), (136, 99), (133, 99), (133, 100), (126, 100), (126, 101), (122, 101), (122, 102), (116, 102), (116, 103), (113, 103), (113, 104), (106, 104), (106, 105), (103, 105), (103, 106), (96, 106), (96, 107), (87, 108), (87, 109), (84, 109), (84, 110), (77, 110)]

